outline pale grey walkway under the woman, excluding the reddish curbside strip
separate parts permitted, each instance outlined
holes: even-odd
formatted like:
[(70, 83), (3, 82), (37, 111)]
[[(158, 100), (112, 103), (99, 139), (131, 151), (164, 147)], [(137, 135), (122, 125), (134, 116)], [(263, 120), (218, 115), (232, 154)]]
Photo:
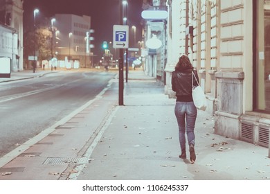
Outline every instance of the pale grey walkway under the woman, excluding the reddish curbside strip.
[(195, 127), (197, 161), (179, 159), (174, 104), (156, 82), (125, 85), (125, 106), (78, 179), (270, 179), (267, 148), (213, 134), (214, 117), (203, 111)]

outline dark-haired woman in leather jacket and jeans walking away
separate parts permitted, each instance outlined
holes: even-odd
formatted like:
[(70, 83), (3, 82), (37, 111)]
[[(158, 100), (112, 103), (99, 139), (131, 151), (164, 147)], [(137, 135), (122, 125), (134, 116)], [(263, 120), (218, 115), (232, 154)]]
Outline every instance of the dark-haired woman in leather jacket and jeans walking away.
[[(197, 108), (192, 99), (192, 86), (197, 86), (197, 82), (192, 83), (192, 71), (197, 80), (198, 74), (192, 67), (187, 55), (182, 55), (172, 72), (172, 90), (176, 92), (177, 103), (174, 107), (174, 114), (177, 117), (179, 127), (179, 143), (181, 155), (179, 158), (186, 159), (186, 134), (190, 151), (190, 162), (194, 163), (195, 155), (195, 134), (194, 127), (197, 118)], [(194, 79), (195, 80), (195, 79)]]

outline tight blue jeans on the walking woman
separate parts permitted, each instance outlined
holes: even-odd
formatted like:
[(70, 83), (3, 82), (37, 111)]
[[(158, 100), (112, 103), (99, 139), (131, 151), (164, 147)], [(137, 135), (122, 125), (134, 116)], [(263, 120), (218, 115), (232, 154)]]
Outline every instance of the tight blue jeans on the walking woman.
[(177, 102), (174, 107), (179, 127), (179, 142), (181, 150), (186, 150), (186, 134), (188, 145), (195, 145), (194, 127), (197, 118), (197, 108), (193, 102)]

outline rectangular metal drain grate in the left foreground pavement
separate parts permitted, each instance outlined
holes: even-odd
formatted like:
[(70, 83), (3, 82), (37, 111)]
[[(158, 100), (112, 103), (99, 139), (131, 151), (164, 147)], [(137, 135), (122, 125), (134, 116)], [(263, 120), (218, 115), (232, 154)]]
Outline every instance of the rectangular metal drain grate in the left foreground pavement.
[(88, 158), (81, 157), (81, 158), (65, 158), (65, 157), (48, 157), (43, 164), (50, 164), (50, 165), (64, 165), (64, 164), (87, 164)]

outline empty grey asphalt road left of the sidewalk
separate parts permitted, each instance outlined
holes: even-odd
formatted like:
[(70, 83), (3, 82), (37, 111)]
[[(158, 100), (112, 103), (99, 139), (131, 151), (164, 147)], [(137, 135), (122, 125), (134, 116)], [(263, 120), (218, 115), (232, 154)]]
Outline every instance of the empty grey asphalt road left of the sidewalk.
[(95, 98), (114, 76), (60, 72), (0, 83), (0, 157)]

